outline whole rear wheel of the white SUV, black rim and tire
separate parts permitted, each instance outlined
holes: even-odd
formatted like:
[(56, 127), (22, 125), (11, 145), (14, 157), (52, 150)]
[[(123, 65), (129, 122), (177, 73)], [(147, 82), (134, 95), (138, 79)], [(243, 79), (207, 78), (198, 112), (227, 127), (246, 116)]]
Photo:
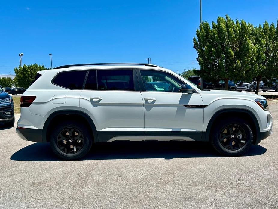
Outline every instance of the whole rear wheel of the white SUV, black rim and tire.
[[(69, 135), (67, 135), (67, 133), (69, 133)], [(72, 133), (73, 135), (71, 135)], [(62, 138), (60, 134), (69, 137)], [(77, 134), (78, 136), (81, 134), (80, 137), (78, 137)], [(58, 137), (60, 138), (58, 139)], [(78, 142), (78, 140), (80, 142)], [(69, 120), (59, 123), (59, 125), (52, 130), (50, 144), (53, 152), (59, 158), (76, 160), (84, 157), (90, 151), (93, 144), (93, 137), (86, 126), (76, 121)]]

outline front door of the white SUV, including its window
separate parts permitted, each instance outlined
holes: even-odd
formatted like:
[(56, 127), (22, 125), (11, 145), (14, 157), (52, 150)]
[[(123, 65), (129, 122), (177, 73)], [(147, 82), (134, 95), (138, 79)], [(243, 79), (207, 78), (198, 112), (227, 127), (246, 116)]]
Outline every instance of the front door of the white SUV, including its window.
[(199, 93), (183, 94), (184, 83), (160, 70), (137, 70), (144, 103), (146, 140), (200, 140), (203, 101)]

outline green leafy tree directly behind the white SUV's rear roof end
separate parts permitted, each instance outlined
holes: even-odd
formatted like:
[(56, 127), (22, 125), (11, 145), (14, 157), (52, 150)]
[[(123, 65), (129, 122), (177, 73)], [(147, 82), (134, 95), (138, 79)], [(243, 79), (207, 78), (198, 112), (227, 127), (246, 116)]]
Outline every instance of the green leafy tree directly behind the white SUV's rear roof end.
[(16, 74), (16, 86), (28, 88), (35, 79), (37, 72), (41, 70), (47, 70), (47, 68), (38, 64), (24, 64), (22, 67), (19, 66), (18, 68), (14, 68), (14, 72)]

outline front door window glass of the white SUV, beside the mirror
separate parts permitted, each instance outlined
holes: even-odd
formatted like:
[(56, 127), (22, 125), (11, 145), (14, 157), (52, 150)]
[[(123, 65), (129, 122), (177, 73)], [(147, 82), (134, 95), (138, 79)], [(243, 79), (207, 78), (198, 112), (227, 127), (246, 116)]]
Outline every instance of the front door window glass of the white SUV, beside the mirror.
[(182, 82), (169, 73), (140, 70), (146, 91), (180, 92)]

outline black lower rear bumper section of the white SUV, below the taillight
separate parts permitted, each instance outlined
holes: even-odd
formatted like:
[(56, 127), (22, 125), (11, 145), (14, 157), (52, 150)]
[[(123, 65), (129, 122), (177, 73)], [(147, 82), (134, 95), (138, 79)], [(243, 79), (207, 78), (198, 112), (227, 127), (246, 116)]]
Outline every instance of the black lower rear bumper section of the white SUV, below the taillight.
[(31, 142), (43, 142), (42, 141), (42, 130), (41, 129), (29, 129), (29, 128), (16, 128), (17, 135), (26, 141)]

